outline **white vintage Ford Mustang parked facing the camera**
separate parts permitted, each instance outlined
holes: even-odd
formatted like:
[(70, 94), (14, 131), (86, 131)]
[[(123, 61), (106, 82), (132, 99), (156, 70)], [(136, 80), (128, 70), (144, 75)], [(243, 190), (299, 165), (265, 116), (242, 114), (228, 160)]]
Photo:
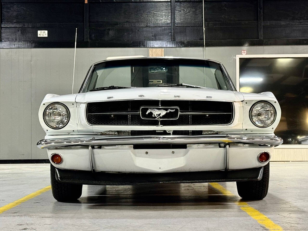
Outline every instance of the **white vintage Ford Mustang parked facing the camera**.
[(37, 143), (51, 162), (58, 201), (83, 184), (236, 181), (263, 199), (281, 110), (271, 92), (236, 91), (213, 60), (155, 57), (94, 63), (78, 94), (47, 94)]

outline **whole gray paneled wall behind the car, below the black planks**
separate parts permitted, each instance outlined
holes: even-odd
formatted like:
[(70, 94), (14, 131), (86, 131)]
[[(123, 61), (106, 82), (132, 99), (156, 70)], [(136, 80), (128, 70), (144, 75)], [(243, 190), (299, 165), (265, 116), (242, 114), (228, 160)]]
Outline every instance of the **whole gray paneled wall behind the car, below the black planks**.
[[(233, 82), (235, 57), (247, 54), (301, 54), (308, 46), (206, 47), (205, 57), (222, 62)], [(80, 48), (76, 51), (74, 93), (92, 63), (108, 56), (144, 55), (147, 48)], [(165, 48), (165, 56), (203, 58), (203, 47)], [(36, 148), (45, 136), (38, 119), (47, 93), (71, 94), (74, 49), (0, 49), (0, 159), (46, 159)], [(18, 145), (16, 145), (18, 144)]]

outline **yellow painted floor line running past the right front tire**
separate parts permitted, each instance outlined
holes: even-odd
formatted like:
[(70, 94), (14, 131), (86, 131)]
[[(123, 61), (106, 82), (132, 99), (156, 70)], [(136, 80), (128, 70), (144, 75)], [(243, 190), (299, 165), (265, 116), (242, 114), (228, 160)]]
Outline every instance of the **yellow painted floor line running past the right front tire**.
[[(218, 183), (209, 183), (213, 188), (216, 188), (222, 194), (226, 196), (234, 196), (228, 189), (224, 188)], [(249, 206), (246, 202), (235, 202), (240, 208), (245, 211), (250, 217), (255, 219), (259, 224), (263, 225), (266, 229), (270, 231), (283, 231), (283, 229), (275, 224), (270, 218), (266, 217), (264, 214), (260, 213), (257, 209)]]

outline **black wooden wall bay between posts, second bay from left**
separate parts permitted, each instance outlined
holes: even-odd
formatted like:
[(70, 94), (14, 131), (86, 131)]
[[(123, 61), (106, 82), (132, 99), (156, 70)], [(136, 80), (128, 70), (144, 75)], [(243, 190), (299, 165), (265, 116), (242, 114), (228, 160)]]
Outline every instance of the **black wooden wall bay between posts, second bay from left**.
[(170, 41), (170, 12), (170, 2), (89, 2), (89, 40)]

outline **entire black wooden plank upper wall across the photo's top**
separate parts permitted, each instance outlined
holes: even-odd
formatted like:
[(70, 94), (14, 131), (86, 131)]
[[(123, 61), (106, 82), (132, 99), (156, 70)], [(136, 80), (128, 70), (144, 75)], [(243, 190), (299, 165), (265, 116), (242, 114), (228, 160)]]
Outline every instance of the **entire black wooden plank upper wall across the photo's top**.
[[(0, 0), (0, 47), (202, 47), (202, 0)], [(204, 0), (206, 46), (308, 44), (308, 0)], [(37, 37), (48, 30), (48, 37)]]

